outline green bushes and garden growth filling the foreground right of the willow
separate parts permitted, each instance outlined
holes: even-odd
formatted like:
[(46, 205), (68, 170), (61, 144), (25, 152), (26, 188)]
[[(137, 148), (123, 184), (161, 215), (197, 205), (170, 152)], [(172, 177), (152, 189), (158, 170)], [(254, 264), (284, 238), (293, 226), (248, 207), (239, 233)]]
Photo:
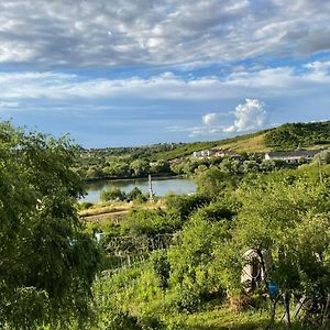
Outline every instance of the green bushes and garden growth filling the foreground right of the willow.
[[(297, 327), (328, 327), (321, 307), (330, 285), (329, 174), (329, 165), (317, 164), (237, 179), (206, 169), (197, 195), (170, 195), (166, 211), (133, 211), (103, 226), (108, 271), (95, 287), (96, 329), (202, 329), (187, 323), (188, 316), (229, 302), (265, 315), (276, 308), (265, 295), (270, 282), (286, 301), (297, 304), (305, 294), (315, 304), (294, 320)], [(255, 290), (244, 294), (249, 249), (270, 251), (273, 262)], [(240, 329), (264, 329), (271, 320), (270, 312), (261, 324), (246, 321)]]

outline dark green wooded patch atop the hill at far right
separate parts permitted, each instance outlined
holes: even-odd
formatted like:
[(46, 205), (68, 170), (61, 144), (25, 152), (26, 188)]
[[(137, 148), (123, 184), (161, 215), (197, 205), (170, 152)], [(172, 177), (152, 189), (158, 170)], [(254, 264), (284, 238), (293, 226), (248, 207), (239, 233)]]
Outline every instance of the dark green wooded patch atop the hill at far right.
[(284, 124), (266, 132), (265, 144), (278, 150), (330, 144), (330, 121)]

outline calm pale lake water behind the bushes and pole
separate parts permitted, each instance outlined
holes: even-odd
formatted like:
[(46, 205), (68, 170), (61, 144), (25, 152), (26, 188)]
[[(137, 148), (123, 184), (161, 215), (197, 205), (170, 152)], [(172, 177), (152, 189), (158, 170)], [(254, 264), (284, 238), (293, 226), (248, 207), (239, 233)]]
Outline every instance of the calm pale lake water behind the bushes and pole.
[[(100, 193), (103, 189), (118, 187), (121, 190), (129, 193), (134, 187), (138, 187), (142, 193), (148, 193), (147, 178), (143, 179), (125, 179), (125, 180), (102, 180), (94, 184), (88, 184), (87, 196), (84, 201), (96, 202), (100, 200)], [(167, 193), (190, 194), (196, 191), (196, 185), (184, 178), (167, 178), (153, 179), (153, 190), (156, 196), (164, 196)]]

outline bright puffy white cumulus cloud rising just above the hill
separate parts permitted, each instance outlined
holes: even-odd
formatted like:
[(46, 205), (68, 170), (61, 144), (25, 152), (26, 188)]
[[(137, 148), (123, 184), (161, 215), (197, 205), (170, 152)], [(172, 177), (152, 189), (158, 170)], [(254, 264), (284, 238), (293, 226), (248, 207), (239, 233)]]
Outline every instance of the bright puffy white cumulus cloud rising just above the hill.
[(226, 133), (245, 132), (262, 129), (265, 125), (267, 112), (265, 105), (257, 99), (245, 99), (245, 103), (235, 108), (237, 120), (223, 129)]

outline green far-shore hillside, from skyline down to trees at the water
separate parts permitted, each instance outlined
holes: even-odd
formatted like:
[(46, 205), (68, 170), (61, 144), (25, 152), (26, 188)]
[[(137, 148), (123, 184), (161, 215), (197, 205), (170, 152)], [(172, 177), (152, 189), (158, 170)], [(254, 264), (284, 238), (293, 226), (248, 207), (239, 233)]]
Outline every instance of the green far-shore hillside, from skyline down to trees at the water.
[[(246, 152), (295, 150), (297, 147), (327, 147), (330, 144), (330, 122), (289, 123), (282, 127), (226, 139), (222, 141), (155, 144), (138, 147), (108, 147), (81, 150), (76, 165), (87, 179), (170, 176), (191, 174), (205, 160), (194, 160), (195, 151), (221, 148), (239, 153), (246, 161)], [(200, 163), (200, 164), (199, 164)], [(210, 162), (209, 162), (210, 163)], [(193, 170), (191, 170), (193, 168)]]

